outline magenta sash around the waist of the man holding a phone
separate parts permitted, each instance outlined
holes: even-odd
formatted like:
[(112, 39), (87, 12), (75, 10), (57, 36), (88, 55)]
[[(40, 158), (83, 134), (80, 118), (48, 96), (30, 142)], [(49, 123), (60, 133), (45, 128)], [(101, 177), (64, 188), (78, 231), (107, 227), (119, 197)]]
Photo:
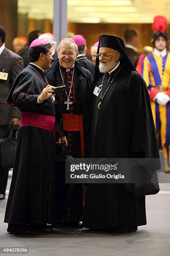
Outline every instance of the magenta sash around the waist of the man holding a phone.
[(20, 126), (35, 126), (48, 131), (53, 131), (55, 138), (55, 117), (52, 115), (21, 112)]

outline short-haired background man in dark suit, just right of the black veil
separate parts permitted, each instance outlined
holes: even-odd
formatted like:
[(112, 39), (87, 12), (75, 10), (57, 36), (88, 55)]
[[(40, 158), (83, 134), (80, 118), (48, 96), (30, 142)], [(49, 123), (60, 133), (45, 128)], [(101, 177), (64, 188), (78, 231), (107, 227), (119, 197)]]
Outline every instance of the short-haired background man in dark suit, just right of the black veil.
[(134, 28), (128, 28), (124, 31), (125, 45), (128, 51), (128, 55), (133, 65), (136, 67), (140, 54), (136, 51), (138, 47), (139, 38), (138, 31)]

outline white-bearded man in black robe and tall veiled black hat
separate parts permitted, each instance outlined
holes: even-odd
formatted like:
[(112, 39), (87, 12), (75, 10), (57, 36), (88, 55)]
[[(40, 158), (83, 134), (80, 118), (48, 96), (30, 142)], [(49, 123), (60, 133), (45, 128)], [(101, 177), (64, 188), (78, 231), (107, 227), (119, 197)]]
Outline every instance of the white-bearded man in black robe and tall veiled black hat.
[[(91, 94), (91, 158), (159, 158), (148, 90), (124, 41), (101, 35), (99, 53), (92, 92), (102, 90)], [(83, 226), (130, 232), (146, 225), (145, 196), (130, 194), (127, 185), (87, 184)]]

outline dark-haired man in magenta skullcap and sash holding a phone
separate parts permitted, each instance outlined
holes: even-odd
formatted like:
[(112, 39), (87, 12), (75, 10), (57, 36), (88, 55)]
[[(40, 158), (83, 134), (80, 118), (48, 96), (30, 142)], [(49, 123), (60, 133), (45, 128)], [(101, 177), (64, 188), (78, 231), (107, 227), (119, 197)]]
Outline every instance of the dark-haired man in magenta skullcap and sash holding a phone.
[(15, 79), (7, 103), (21, 111), (13, 178), (5, 212), (10, 233), (50, 232), (54, 223), (55, 107), (44, 70), (50, 67), (51, 45), (36, 39), (30, 63)]

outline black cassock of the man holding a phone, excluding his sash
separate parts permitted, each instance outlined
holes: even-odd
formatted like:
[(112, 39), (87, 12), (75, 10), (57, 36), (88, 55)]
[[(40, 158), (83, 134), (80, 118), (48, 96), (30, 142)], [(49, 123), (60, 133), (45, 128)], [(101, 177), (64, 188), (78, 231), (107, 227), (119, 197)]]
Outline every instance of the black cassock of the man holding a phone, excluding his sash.
[[(15, 79), (7, 102), (20, 111), (55, 115), (52, 99), (37, 104), (45, 80), (35, 65), (23, 69)], [(39, 74), (36, 72), (39, 72)], [(7, 223), (54, 223), (55, 143), (52, 131), (20, 126), (13, 177), (5, 212)], [(56, 202), (55, 202), (56, 203)]]

